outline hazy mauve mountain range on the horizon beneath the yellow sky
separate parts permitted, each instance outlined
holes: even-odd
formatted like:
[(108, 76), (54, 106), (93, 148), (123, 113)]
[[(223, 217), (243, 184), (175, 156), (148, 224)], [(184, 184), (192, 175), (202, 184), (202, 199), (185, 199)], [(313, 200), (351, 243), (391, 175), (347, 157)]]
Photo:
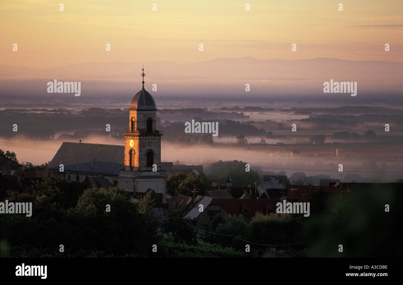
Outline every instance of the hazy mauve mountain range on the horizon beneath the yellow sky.
[[(81, 81), (85, 90), (94, 92), (130, 92), (141, 88), (141, 66), (145, 68), (145, 86), (156, 83), (164, 94), (324, 94), (323, 82), (357, 82), (357, 98), (364, 93), (401, 93), (403, 63), (386, 61), (352, 61), (331, 58), (257, 59), (253, 57), (217, 58), (206, 62), (177, 64), (174, 62), (106, 62), (82, 63), (51, 69), (0, 65), (0, 84), (5, 90), (21, 92), (58, 81)], [(25, 82), (25, 83), (24, 83)], [(245, 92), (250, 84), (250, 92)], [(37, 87), (36, 87), (37, 86)], [(20, 93), (21, 93), (20, 92)], [(36, 92), (35, 92), (36, 93)], [(4, 95), (4, 92), (2, 92)], [(348, 95), (349, 96), (349, 95)], [(362, 98), (361, 98), (362, 99)], [(352, 100), (349, 98), (348, 100)]]

